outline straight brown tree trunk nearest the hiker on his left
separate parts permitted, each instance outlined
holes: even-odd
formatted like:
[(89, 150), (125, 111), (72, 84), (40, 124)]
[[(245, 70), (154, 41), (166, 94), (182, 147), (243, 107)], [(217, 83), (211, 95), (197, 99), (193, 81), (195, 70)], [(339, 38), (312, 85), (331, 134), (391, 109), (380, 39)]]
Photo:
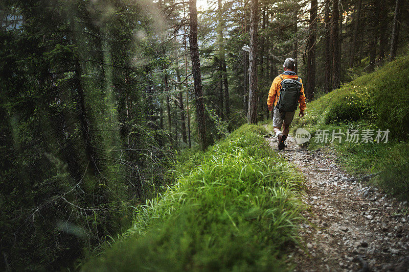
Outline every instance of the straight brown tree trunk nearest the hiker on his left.
[(257, 124), (257, 28), (258, 28), (258, 0), (251, 0), (250, 11), (250, 54), (248, 66), (248, 114), (247, 122)]

